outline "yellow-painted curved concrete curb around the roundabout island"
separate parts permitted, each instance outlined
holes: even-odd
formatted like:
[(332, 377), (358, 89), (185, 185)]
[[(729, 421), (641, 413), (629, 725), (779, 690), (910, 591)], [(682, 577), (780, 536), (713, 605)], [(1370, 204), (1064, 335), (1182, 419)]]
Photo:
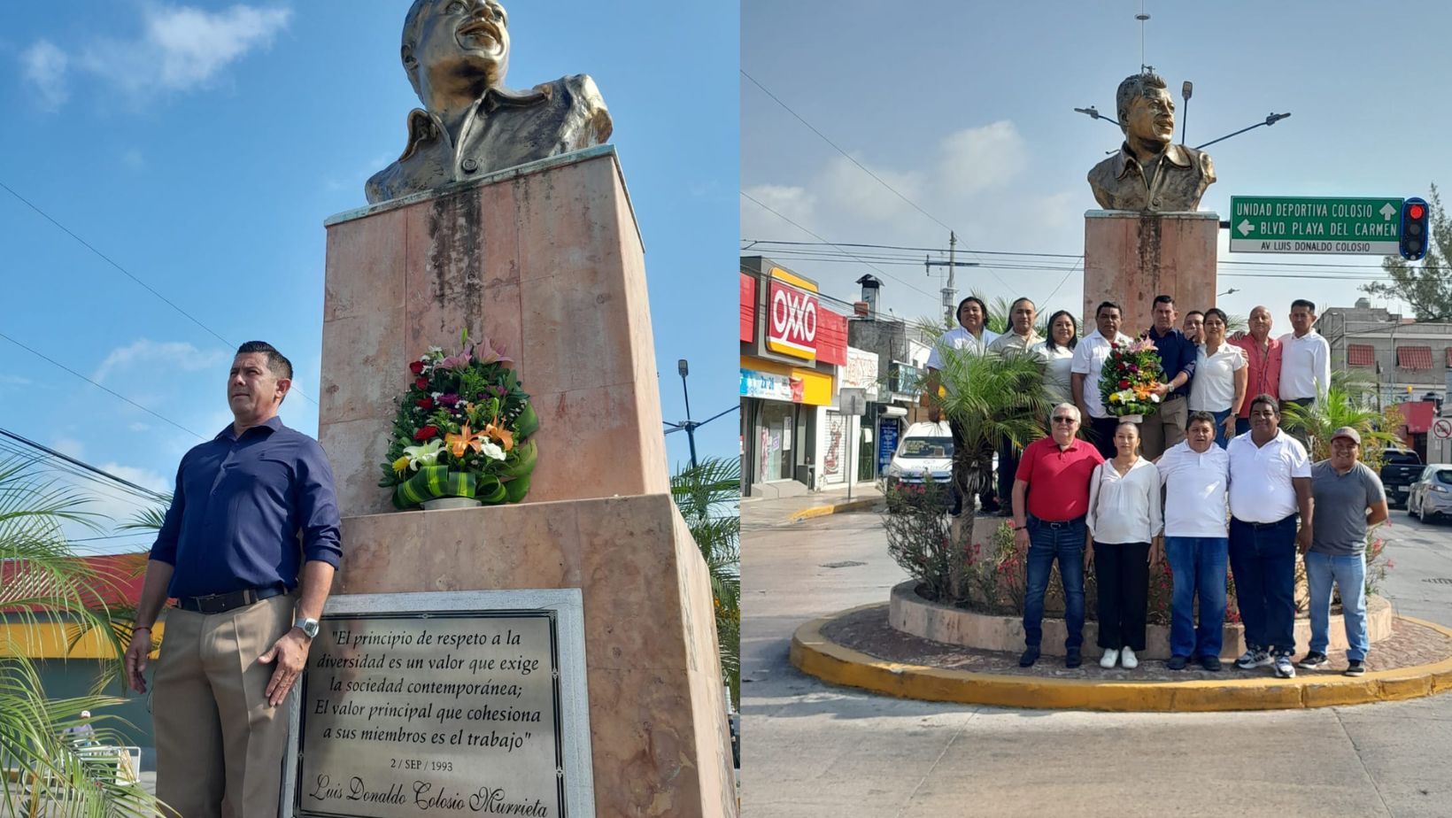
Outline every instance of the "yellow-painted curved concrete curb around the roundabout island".
[[(822, 636), (822, 628), (833, 619), (886, 606), (887, 603), (864, 604), (802, 625), (791, 636), (791, 664), (802, 673), (832, 684), (861, 687), (902, 699), (1034, 709), (1284, 710), (1420, 699), (1452, 689), (1452, 657), (1433, 664), (1368, 673), (1359, 679), (1297, 676), (1225, 681), (1090, 681), (890, 663), (844, 648)], [(1452, 629), (1433, 622), (1410, 616), (1401, 619), (1452, 636)]]

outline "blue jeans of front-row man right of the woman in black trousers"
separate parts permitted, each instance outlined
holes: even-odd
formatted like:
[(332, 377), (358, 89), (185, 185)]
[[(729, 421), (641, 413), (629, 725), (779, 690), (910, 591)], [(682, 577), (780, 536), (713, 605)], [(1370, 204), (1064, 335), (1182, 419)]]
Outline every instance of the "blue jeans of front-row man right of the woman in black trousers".
[[(1218, 657), (1225, 633), (1225, 559), (1230, 540), (1223, 536), (1167, 536), (1175, 590), (1170, 596), (1170, 654)], [(1195, 628), (1195, 596), (1199, 628)]]

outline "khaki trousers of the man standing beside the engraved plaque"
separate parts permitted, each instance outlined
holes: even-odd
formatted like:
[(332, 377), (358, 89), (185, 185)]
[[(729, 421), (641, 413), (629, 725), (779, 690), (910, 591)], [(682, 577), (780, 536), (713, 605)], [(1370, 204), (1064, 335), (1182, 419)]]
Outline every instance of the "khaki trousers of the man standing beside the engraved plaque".
[(276, 818), (287, 708), (267, 705), (267, 652), (292, 628), (296, 596), (227, 613), (167, 613), (152, 680), (157, 798), (184, 818)]

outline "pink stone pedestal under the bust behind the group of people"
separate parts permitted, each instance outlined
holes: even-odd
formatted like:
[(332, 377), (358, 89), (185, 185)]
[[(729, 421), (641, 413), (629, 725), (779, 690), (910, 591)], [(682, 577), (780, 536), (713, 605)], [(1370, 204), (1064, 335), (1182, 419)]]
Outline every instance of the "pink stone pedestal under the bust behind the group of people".
[(1085, 212), (1085, 311), (1082, 328), (1095, 328), (1095, 308), (1124, 308), (1119, 327), (1137, 336), (1153, 323), (1156, 295), (1173, 295), (1180, 315), (1215, 305), (1215, 214)]

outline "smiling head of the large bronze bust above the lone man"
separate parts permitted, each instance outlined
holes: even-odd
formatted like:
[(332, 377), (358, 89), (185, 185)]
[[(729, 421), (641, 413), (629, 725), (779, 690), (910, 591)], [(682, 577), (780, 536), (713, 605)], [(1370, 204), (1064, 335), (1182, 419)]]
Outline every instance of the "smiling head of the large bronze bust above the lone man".
[(424, 108), (469, 106), (504, 86), (510, 32), (497, 0), (414, 0), (404, 17), (404, 70)]

